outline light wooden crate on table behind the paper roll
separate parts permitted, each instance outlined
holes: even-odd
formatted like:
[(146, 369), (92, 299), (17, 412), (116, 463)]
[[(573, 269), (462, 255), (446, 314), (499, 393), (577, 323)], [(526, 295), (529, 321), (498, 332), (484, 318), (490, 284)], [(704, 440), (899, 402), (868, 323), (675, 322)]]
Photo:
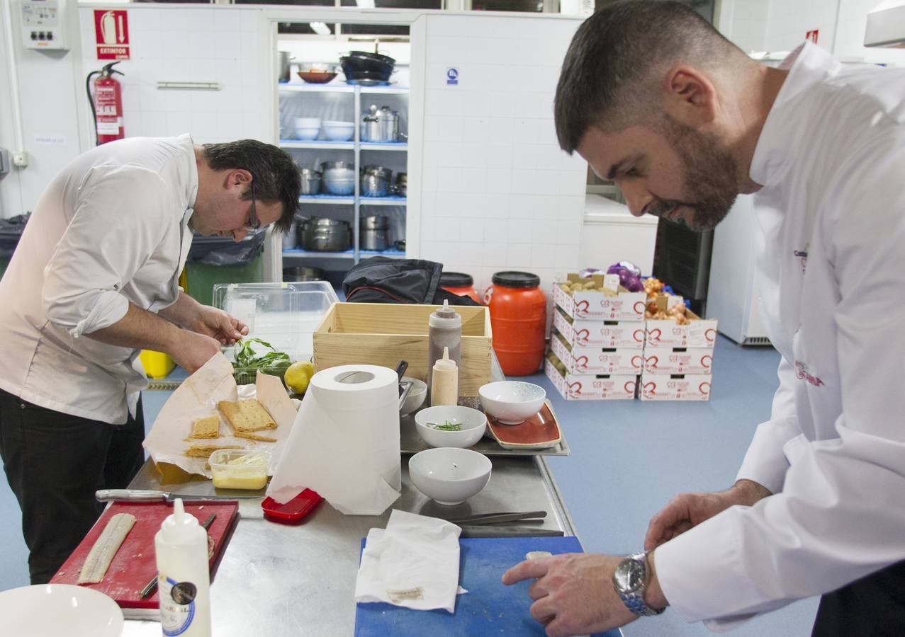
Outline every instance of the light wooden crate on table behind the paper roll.
[[(439, 305), (334, 303), (314, 332), (314, 369), (356, 363), (395, 369), (427, 379), (427, 319)], [(462, 316), (459, 394), (477, 396), (491, 381), (491, 314), (486, 307), (455, 305)]]

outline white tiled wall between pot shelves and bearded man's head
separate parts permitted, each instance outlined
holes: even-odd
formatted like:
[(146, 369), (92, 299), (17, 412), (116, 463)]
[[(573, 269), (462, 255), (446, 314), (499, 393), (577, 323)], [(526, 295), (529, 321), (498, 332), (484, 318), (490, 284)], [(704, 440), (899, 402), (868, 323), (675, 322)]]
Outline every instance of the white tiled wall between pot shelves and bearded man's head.
[[(586, 163), (559, 149), (553, 96), (580, 20), (430, 15), (421, 255), (471, 274), (579, 267)], [(447, 70), (459, 71), (458, 85)]]

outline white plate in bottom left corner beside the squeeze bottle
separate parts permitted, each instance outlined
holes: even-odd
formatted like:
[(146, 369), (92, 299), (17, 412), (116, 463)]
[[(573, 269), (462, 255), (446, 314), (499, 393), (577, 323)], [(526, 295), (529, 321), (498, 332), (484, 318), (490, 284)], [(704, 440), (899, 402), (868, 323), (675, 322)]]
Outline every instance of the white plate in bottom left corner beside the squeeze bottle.
[(119, 637), (119, 606), (98, 591), (70, 584), (39, 584), (0, 593), (3, 632), (33, 637)]

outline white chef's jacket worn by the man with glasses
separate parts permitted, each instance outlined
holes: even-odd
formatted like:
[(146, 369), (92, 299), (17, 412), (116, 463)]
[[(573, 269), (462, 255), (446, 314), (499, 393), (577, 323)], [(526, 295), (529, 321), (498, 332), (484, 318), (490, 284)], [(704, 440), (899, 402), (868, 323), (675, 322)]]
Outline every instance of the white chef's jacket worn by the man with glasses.
[(138, 351), (87, 335), (129, 302), (156, 313), (176, 301), (197, 189), (187, 135), (100, 145), (54, 178), (0, 282), (0, 388), (113, 424), (135, 413)]

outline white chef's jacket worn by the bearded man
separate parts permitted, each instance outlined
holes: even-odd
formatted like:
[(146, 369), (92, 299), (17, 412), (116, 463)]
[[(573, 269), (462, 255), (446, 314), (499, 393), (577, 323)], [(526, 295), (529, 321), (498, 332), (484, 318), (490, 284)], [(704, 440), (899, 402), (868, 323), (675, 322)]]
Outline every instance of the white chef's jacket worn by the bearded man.
[(738, 472), (776, 495), (655, 556), (711, 628), (905, 559), (905, 70), (810, 43), (783, 66), (750, 169), (780, 385)]

